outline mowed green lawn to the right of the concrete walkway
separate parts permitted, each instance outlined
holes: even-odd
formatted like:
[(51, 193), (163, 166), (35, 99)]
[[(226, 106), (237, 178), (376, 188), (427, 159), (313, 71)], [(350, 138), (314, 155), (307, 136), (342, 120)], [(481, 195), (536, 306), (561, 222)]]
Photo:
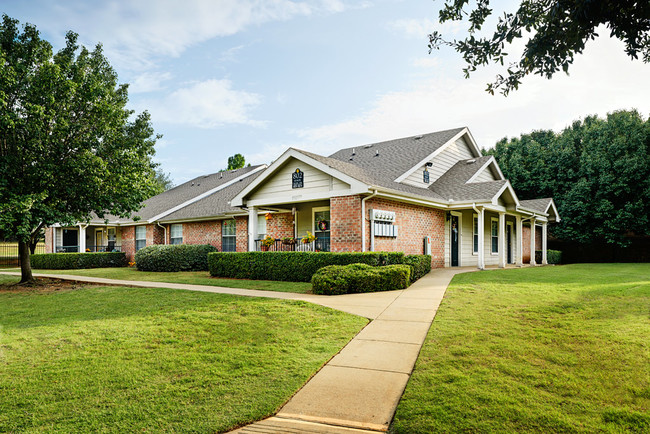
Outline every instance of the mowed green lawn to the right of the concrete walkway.
[(650, 432), (650, 264), (456, 276), (391, 431)]

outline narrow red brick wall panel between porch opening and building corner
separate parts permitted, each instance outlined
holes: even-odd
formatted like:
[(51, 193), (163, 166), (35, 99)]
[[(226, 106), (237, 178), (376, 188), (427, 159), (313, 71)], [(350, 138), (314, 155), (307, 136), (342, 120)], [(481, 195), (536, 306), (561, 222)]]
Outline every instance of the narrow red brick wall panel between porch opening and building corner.
[(330, 250), (361, 251), (361, 198), (338, 196), (330, 199)]

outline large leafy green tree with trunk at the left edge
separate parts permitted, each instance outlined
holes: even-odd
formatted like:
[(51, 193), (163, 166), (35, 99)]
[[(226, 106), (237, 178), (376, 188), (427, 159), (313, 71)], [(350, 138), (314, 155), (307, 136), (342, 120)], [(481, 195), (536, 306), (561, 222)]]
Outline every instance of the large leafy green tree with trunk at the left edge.
[(24, 283), (42, 228), (126, 217), (154, 191), (149, 115), (130, 120), (101, 45), (76, 41), (68, 32), (53, 54), (33, 25), (7, 15), (0, 25), (0, 238), (17, 239)]

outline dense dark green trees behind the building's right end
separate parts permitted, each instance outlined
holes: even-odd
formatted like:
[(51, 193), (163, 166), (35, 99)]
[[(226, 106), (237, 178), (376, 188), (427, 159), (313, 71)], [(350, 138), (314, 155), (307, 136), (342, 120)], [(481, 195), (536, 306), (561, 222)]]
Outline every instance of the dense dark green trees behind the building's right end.
[(558, 238), (626, 246), (631, 233), (650, 235), (650, 120), (638, 112), (503, 139), (486, 153), (520, 199), (555, 199)]

